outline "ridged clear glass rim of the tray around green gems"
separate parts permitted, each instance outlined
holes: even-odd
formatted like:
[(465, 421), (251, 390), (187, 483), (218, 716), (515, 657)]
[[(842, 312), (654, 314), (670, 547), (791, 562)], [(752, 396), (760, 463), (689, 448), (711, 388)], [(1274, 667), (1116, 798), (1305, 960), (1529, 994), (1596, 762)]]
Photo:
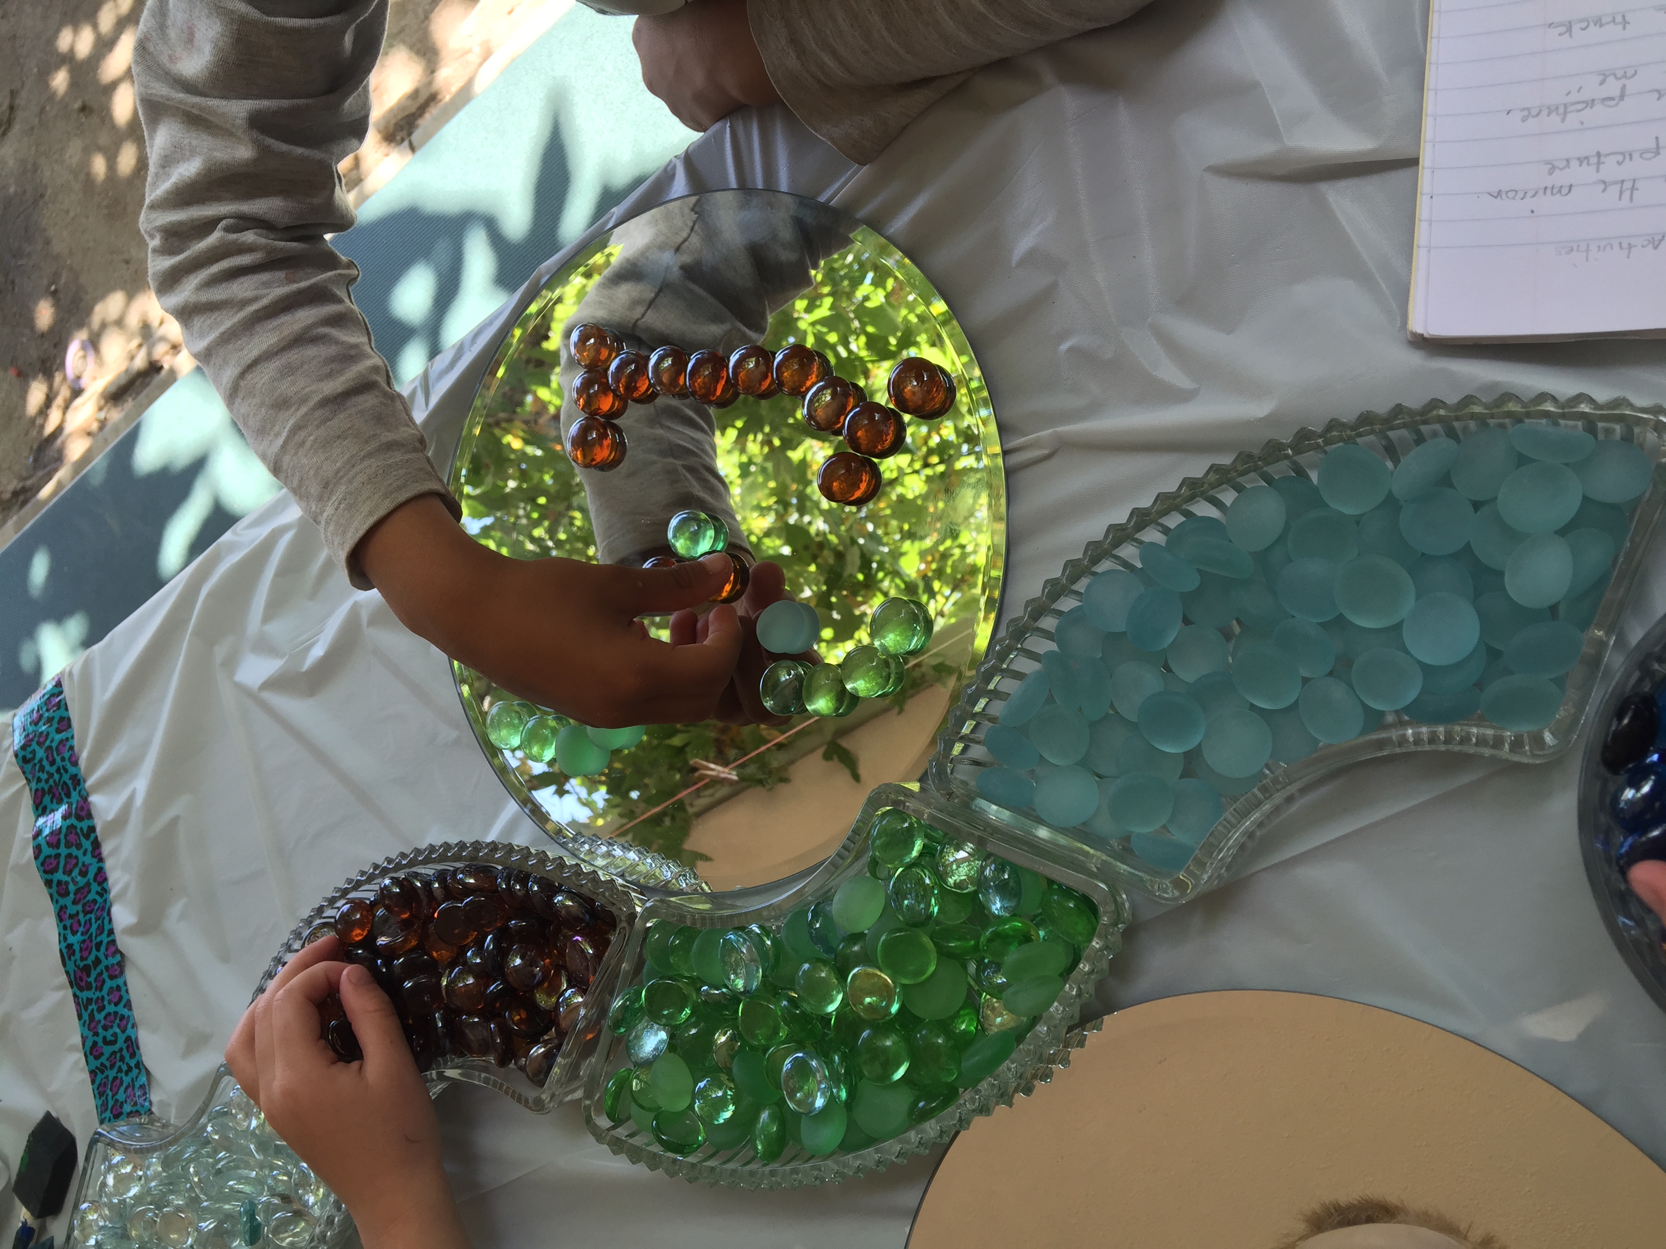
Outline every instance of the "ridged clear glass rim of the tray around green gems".
[[(826, 1156), (811, 1156), (801, 1146), (788, 1144), (780, 1159), (760, 1162), (748, 1144), (721, 1149), (708, 1142), (691, 1154), (675, 1154), (630, 1117), (610, 1122), (603, 1109), (606, 1082), (616, 1071), (630, 1066), (625, 1052), (626, 1039), (610, 1028), (585, 1064), (585, 1122), (598, 1141), (615, 1154), (623, 1154), (650, 1169), (726, 1187), (783, 1189), (838, 1182), (948, 1141), (978, 1116), (991, 1114), (996, 1106), (1011, 1106), (1015, 1097), (1030, 1096), (1038, 1082), (1051, 1079), (1055, 1067), (1070, 1064), (1070, 1051), (1083, 1044), (1088, 1031), (1098, 1029), (1098, 1021), (1078, 1028), (1078, 1019), (1093, 996), (1093, 988), (1106, 974), (1110, 959), (1121, 949), (1121, 931), (1128, 924), (1126, 899), (1116, 886), (1093, 874), (1080, 848), (1038, 838), (1025, 829), (991, 826), (958, 804), (945, 803), (938, 794), (915, 786), (878, 786), (840, 849), (795, 889), (761, 906), (740, 908), (733, 896), (661, 898), (646, 903), (625, 949), (618, 984), (630, 984), (641, 973), (643, 938), (650, 921), (668, 919), (688, 928), (728, 929), (746, 924), (778, 926), (791, 911), (831, 898), (841, 883), (868, 868), (868, 834), (875, 816), (886, 808), (900, 808), (936, 826), (946, 838), (958, 838), (981, 851), (1030, 868), (1046, 879), (1068, 884), (1098, 906), (1100, 924), (1093, 939), (1081, 949), (1076, 966), (1066, 973), (1063, 991), (1035, 1019), (1013, 1054), (983, 1081), (965, 1089), (945, 1111), (896, 1137)], [(788, 991), (783, 996), (791, 994)]]

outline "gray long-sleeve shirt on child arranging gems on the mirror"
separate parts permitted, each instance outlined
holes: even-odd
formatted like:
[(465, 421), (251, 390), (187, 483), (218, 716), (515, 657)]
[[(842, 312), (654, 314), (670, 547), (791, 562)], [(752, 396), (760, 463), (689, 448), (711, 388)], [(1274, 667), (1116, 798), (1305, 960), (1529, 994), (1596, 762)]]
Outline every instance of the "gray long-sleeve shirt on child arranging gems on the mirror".
[[(781, 98), (871, 160), (971, 70), (1146, 0), (748, 0)], [(438, 495), (456, 513), (353, 306), (337, 163), (370, 120), (387, 0), (150, 0), (133, 85), (150, 278), (255, 455), (355, 586), (360, 538)]]

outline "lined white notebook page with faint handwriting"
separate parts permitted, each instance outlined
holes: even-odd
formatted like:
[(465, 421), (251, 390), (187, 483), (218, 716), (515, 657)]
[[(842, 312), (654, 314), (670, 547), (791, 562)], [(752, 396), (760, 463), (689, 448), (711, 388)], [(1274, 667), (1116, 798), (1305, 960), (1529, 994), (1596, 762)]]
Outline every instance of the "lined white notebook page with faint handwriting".
[(1431, 0), (1409, 330), (1666, 333), (1666, 3)]

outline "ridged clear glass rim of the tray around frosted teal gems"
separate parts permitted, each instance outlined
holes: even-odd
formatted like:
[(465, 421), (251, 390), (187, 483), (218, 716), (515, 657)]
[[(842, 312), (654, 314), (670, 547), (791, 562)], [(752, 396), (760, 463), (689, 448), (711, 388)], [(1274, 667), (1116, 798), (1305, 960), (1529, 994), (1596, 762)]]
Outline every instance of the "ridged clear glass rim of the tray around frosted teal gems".
[[(1321, 746), (1298, 763), (1269, 763), (1259, 779), (1226, 806), (1215, 828), (1175, 871), (1163, 871), (1133, 853), (1128, 839), (1106, 841), (1085, 828), (1053, 829), (1038, 819), (996, 806), (980, 796), (976, 774), (993, 763), (983, 734), (996, 723), (1001, 704), (1018, 683), (1040, 668), (1041, 653), (1053, 649), (1053, 626), (1060, 616), (1078, 606), (1081, 590), (1096, 573), (1138, 568), (1143, 543), (1161, 540), (1180, 521), (1191, 516), (1221, 516), (1243, 490), (1271, 483), (1283, 475), (1309, 478), (1323, 453), (1341, 443), (1359, 443), (1389, 465), (1416, 445), (1438, 435), (1461, 438), (1479, 425), (1506, 428), (1523, 421), (1556, 421), (1578, 426), (1599, 440), (1623, 438), (1644, 450), (1656, 468), (1648, 490), (1634, 505), (1631, 526), (1613, 565), (1608, 591), (1584, 629), (1584, 648), (1568, 673), (1564, 696), (1554, 719), (1539, 731), (1511, 733), (1481, 716), (1451, 724), (1426, 724), (1389, 713), (1381, 728), (1334, 746)], [(961, 694), (931, 761), (931, 783), (943, 793), (956, 794), (980, 814), (1011, 828), (1080, 844), (1106, 879), (1121, 879), (1163, 901), (1183, 899), (1223, 876), (1236, 854), (1266, 826), (1298, 791), (1363, 759), (1403, 751), (1444, 749), (1486, 754), (1503, 759), (1538, 763), (1558, 756), (1578, 734), (1589, 711), (1598, 673), (1613, 644), (1613, 628), (1626, 593), (1636, 578), (1643, 551), (1654, 531), (1663, 506), (1659, 460), (1666, 438), (1666, 408), (1641, 408), (1629, 400), (1598, 403), (1588, 395), (1556, 400), (1539, 395), (1519, 400), (1504, 395), (1493, 401), (1474, 396), (1458, 403), (1428, 403), (1423, 408), (1398, 406), (1388, 413), (1364, 413), (1353, 421), (1331, 421), (1323, 430), (1299, 430), (1289, 441), (1269, 441), (1259, 451), (1245, 453), (1230, 465), (1215, 465), (1203, 476), (1186, 478), (1180, 488), (1146, 508), (1136, 508), (1128, 520), (1113, 525), (1105, 536), (1088, 543), (1078, 560), (1065, 565), (1041, 593), (1025, 605), (1003, 636), (991, 646), (978, 678)], [(1238, 623), (1233, 623), (1238, 628)], [(1115, 714), (1115, 713), (1113, 713)]]

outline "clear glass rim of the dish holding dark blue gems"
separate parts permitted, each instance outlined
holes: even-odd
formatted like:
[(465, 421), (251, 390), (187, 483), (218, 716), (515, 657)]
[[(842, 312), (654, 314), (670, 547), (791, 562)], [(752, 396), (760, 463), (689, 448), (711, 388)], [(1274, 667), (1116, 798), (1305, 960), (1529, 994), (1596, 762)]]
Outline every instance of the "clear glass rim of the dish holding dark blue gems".
[(1608, 803), (1619, 784), (1603, 768), (1603, 739), (1614, 711), (1631, 694), (1649, 694), (1666, 686), (1666, 620), (1643, 634), (1626, 656), (1614, 684), (1596, 711), (1591, 736), (1579, 761), (1579, 858), (1591, 881), (1591, 896), (1603, 916), (1603, 928), (1619, 948), (1631, 974), (1666, 1011), (1666, 931), (1661, 919), (1626, 884), (1616, 863), (1623, 833), (1608, 818)]

